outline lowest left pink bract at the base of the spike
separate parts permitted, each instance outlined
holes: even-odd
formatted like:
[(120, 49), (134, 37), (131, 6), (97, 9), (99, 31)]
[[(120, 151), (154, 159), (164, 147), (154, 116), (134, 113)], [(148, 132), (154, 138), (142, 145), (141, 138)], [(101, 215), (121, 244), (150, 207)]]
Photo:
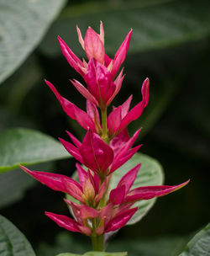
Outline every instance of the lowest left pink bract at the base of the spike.
[(80, 228), (78, 227), (78, 223), (67, 216), (47, 211), (45, 211), (45, 215), (50, 217), (50, 219), (55, 221), (55, 223), (57, 223), (60, 227), (64, 227), (71, 232), (81, 232)]

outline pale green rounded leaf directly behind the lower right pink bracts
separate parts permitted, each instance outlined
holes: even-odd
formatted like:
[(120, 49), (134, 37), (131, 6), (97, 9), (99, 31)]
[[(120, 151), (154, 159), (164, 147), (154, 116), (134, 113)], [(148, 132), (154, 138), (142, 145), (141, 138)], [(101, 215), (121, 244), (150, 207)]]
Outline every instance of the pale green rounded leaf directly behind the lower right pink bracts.
[[(153, 186), (163, 184), (163, 170), (154, 158), (146, 156), (144, 154), (136, 153), (127, 163), (125, 163), (121, 168), (118, 168), (113, 173), (113, 177), (110, 183), (110, 189), (115, 189), (118, 181), (123, 177), (125, 173), (128, 173), (131, 168), (135, 165), (141, 163), (141, 168), (135, 179), (132, 189), (142, 186)], [(129, 220), (127, 225), (134, 224), (140, 221), (144, 215), (150, 211), (150, 208), (155, 204), (155, 199), (151, 200), (140, 200), (134, 204), (134, 207), (138, 206), (139, 210), (134, 214), (134, 216)]]

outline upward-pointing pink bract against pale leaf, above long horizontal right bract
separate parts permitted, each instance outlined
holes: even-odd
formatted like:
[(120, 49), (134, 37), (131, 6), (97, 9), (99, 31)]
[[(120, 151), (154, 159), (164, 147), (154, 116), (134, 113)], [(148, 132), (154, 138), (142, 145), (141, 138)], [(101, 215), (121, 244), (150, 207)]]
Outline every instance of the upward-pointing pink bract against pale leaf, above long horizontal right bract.
[(122, 179), (118, 182), (118, 187), (125, 186), (125, 194), (129, 192), (129, 189), (134, 184), (136, 179), (136, 175), (139, 172), (139, 168), (141, 163), (137, 164), (134, 168), (132, 168), (128, 173), (126, 173)]

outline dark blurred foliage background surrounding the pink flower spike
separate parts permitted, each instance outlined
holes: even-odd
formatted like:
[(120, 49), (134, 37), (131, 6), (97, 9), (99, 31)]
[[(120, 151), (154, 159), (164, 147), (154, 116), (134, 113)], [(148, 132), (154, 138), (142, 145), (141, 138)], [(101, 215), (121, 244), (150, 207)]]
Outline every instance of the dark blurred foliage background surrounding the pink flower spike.
[[(179, 184), (186, 179), (191, 182), (184, 189), (157, 200), (138, 224), (124, 227), (114, 237), (116, 244), (128, 236), (130, 240), (151, 239), (156, 243), (160, 237), (166, 240), (171, 237), (177, 246), (183, 237), (187, 237), (187, 241), (188, 235), (209, 221), (209, 10), (208, 1), (70, 1), (39, 46), (1, 85), (1, 131), (21, 126), (57, 138), (66, 137), (65, 131), (69, 130), (82, 138), (79, 126), (63, 113), (44, 83), (47, 78), (63, 96), (85, 107), (84, 99), (69, 81), (76, 78), (82, 82), (82, 79), (60, 54), (56, 36), (63, 37), (76, 54), (84, 56), (76, 39), (76, 24), (85, 35), (88, 25), (99, 31), (102, 20), (106, 49), (108, 55), (113, 56), (129, 29), (134, 29), (123, 64), (126, 73), (123, 88), (113, 104), (122, 104), (133, 94), (134, 106), (141, 100), (144, 78), (150, 77), (150, 104), (139, 120), (129, 126), (129, 131), (132, 134), (143, 127), (139, 141), (144, 147), (140, 152), (158, 159), (165, 171), (165, 184)], [(71, 174), (75, 161), (60, 160), (40, 168)], [(0, 174), (6, 186), (15, 177), (15, 171)], [(18, 184), (15, 189), (18, 190), (18, 186), (22, 188)], [(62, 197), (61, 193), (29, 181), (18, 199), (11, 196), (0, 204), (0, 211), (24, 232), (39, 255), (48, 255), (47, 252), (52, 255), (50, 244), (54, 248), (55, 244), (59, 248), (62, 243), (63, 247), (67, 243), (70, 246), (68, 234), (44, 215), (44, 211), (68, 215)], [(75, 239), (71, 245), (76, 246), (84, 238), (76, 235), (71, 239)], [(163, 247), (165, 243), (162, 242)]]

